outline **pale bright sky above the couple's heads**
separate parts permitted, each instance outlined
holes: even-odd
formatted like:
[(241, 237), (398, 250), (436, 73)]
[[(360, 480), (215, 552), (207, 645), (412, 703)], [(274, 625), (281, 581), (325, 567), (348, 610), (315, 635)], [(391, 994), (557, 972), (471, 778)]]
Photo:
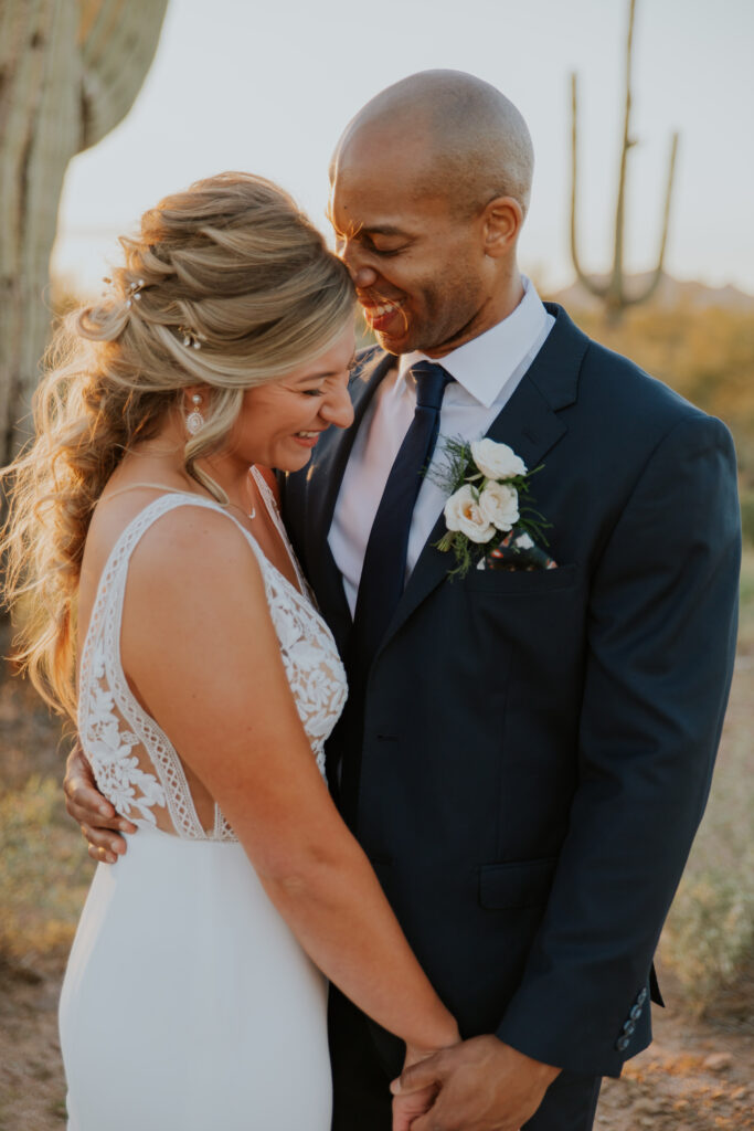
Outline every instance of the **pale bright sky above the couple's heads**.
[[(581, 259), (612, 262), (627, 0), (170, 0), (128, 118), (69, 167), (54, 261), (95, 286), (115, 236), (226, 169), (278, 181), (327, 227), (327, 165), (364, 102), (413, 71), (471, 71), (523, 113), (537, 156), (521, 264), (567, 284), (570, 85), (579, 74)], [(657, 256), (681, 131), (666, 269), (754, 293), (754, 3), (638, 0), (626, 258)]]

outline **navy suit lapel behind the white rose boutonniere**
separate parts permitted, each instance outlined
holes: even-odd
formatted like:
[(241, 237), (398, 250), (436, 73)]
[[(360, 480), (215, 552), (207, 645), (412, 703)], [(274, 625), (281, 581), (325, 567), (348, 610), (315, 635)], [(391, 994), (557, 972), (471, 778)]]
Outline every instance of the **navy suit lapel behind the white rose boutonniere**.
[[(567, 432), (557, 412), (577, 399), (579, 370), (589, 345), (587, 336), (562, 308), (549, 303), (546, 307), (555, 316), (555, 325), (513, 396), (486, 433), (489, 439), (509, 444), (530, 470)], [(441, 515), (408, 579), (382, 647), (447, 577), (451, 561), (448, 554), (433, 545), (444, 532), (444, 516)]]

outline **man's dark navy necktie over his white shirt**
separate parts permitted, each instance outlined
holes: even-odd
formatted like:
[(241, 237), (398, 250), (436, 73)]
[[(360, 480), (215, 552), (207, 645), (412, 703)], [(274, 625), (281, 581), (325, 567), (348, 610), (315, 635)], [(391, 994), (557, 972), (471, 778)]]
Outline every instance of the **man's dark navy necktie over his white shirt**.
[(454, 380), (428, 361), (417, 362), (409, 372), (416, 380), (416, 411), (374, 516), (356, 598), (349, 666), (362, 680), (404, 592), (411, 515), (437, 441), (445, 387)]

